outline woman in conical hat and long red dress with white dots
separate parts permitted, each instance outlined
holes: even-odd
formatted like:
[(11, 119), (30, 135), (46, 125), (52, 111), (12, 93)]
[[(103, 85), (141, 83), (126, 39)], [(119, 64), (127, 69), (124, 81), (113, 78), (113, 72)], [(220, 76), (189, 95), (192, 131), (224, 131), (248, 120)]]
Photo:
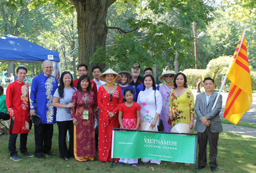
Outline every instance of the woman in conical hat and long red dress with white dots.
[[(120, 86), (114, 84), (121, 76), (112, 69), (103, 72), (99, 78), (106, 84), (101, 85), (98, 91), (99, 107), (99, 143), (98, 159), (102, 162), (111, 161), (112, 130), (120, 128), (118, 121), (118, 107), (123, 102)], [(118, 162), (114, 158), (113, 161)]]

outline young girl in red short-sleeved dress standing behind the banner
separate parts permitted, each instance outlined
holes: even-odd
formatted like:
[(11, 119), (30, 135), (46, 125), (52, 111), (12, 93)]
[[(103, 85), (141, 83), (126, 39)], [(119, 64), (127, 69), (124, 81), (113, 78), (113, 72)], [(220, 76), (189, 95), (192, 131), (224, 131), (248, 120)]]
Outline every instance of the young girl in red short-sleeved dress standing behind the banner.
[[(123, 91), (126, 102), (120, 104), (118, 120), (122, 129), (138, 130), (140, 125), (140, 105), (133, 101), (133, 90), (125, 89)], [(118, 164), (123, 163), (137, 166), (138, 159), (120, 159)]]

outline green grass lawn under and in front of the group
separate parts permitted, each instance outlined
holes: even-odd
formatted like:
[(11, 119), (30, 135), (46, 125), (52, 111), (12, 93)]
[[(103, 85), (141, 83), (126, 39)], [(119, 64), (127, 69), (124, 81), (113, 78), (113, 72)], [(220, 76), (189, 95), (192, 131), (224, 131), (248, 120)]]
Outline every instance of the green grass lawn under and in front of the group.
[[(196, 132), (195, 132), (196, 133)], [(58, 152), (58, 127), (54, 125), (54, 134), (52, 142), (52, 152), (56, 156), (46, 156), (46, 159), (37, 159), (36, 157), (27, 158), (20, 155), (19, 137), (17, 139), (18, 156), (22, 161), (12, 161), (8, 151), (9, 135), (0, 136), (0, 172), (194, 172), (194, 164), (184, 166), (183, 163), (175, 165), (170, 162), (162, 161), (160, 165), (151, 163), (142, 163), (139, 159), (137, 167), (124, 164), (123, 166), (113, 163), (101, 163), (95, 157), (95, 161), (85, 163), (77, 162), (74, 158), (68, 161), (62, 160)], [(34, 154), (34, 129), (28, 135), (28, 152)], [(208, 146), (209, 149), (209, 146)], [(230, 133), (220, 133), (218, 146), (218, 172), (255, 172), (256, 170), (256, 139), (239, 136)], [(209, 150), (208, 152), (209, 153)], [(208, 154), (207, 154), (208, 157)], [(209, 161), (209, 159), (207, 158)], [(153, 170), (154, 169), (154, 170)], [(209, 165), (197, 172), (211, 172)]]

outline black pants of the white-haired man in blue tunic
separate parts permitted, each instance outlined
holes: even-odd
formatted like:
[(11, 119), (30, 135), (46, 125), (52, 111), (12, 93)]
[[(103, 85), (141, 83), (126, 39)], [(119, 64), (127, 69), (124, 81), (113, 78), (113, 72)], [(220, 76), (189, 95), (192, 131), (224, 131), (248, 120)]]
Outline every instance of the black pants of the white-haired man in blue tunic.
[(48, 153), (52, 149), (53, 124), (35, 125), (35, 155)]

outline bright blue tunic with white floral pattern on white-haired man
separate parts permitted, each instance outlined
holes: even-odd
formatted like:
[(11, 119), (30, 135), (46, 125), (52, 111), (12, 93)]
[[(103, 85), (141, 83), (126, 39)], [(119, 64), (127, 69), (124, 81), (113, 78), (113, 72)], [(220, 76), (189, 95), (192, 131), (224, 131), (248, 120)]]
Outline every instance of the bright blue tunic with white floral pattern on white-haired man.
[(41, 123), (56, 123), (56, 108), (52, 106), (53, 94), (58, 88), (57, 79), (45, 73), (37, 75), (32, 82), (30, 92), (30, 109), (36, 110)]

